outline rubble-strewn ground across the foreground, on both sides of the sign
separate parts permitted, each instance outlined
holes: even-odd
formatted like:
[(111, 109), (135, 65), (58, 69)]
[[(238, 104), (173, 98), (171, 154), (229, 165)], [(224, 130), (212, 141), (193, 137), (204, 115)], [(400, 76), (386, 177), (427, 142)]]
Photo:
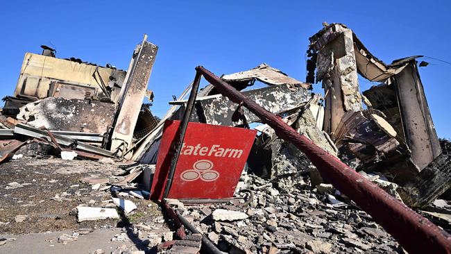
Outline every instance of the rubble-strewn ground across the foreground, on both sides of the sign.
[[(1, 248), (12, 253), (23, 250), (22, 239), (61, 253), (87, 250), (86, 246), (90, 247), (86, 253), (99, 248), (112, 252), (123, 245), (124, 250), (150, 253), (160, 242), (173, 239), (171, 220), (158, 203), (128, 194), (139, 185), (114, 193), (111, 189), (119, 187), (81, 180), (99, 178), (100, 173), (111, 183), (121, 180), (124, 176), (117, 175), (126, 170), (116, 163), (20, 158), (0, 169), (8, 176), (0, 182)], [(312, 187), (308, 173), (287, 173), (277, 181), (244, 173), (237, 192), (243, 199), (173, 207), (227, 253), (405, 253), (384, 228), (332, 185)], [(117, 219), (77, 222), (74, 208), (115, 208), (113, 196), (133, 201), (137, 209), (130, 214), (118, 209)], [(437, 200), (421, 213), (450, 232), (449, 215), (441, 218), (451, 214), (450, 208), (448, 201)], [(87, 240), (92, 237), (99, 241)]]

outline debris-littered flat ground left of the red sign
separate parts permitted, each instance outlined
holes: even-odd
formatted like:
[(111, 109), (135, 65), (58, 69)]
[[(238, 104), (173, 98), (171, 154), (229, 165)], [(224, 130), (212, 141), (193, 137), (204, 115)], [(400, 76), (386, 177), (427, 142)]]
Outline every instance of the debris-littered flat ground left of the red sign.
[[(163, 239), (171, 240), (173, 232), (158, 204), (142, 196), (135, 197), (141, 193), (139, 185), (130, 183), (112, 189), (108, 184), (123, 180), (125, 176), (121, 175), (127, 173), (126, 169), (110, 160), (60, 158), (24, 157), (0, 164), (0, 232), (6, 239), (1, 241), (5, 247), (0, 248), (10, 249), (9, 253), (24, 253), (24, 249), (30, 249), (20, 248), (24, 238), (37, 241), (36, 247), (47, 251), (77, 253), (81, 248), (84, 253), (94, 253), (105, 248), (110, 253), (124, 244), (124, 251), (148, 251)], [(87, 183), (94, 179), (102, 183)], [(135, 196), (130, 195), (133, 191)], [(113, 203), (113, 197), (133, 202), (136, 209), (124, 212)], [(80, 207), (112, 209), (118, 216), (79, 221)], [(99, 242), (88, 240), (92, 235)], [(85, 244), (80, 247), (72, 243), (78, 240)]]

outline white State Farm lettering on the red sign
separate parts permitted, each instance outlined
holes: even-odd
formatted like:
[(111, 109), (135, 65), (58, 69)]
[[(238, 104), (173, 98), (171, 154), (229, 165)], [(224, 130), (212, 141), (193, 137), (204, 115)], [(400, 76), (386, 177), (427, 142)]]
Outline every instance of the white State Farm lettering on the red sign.
[(243, 150), (222, 148), (219, 144), (214, 144), (212, 147), (202, 146), (202, 144), (196, 144), (196, 146), (187, 146), (182, 144), (181, 155), (201, 155), (201, 156), (214, 156), (214, 157), (227, 157), (227, 158), (240, 158), (243, 154)]

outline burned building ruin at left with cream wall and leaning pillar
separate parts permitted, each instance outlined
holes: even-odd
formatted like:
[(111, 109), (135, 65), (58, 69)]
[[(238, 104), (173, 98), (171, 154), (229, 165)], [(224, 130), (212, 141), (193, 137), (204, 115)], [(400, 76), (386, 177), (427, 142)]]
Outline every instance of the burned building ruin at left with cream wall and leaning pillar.
[[(153, 100), (147, 83), (158, 46), (145, 35), (127, 71), (56, 58), (44, 48), (43, 55), (26, 53), (14, 95), (3, 99), (3, 126), (25, 124), (55, 135), (70, 133), (66, 137), (74, 147), (83, 140), (80, 136), (89, 136), (88, 142), (102, 151), (97, 154), (131, 156), (135, 142), (156, 126), (142, 103), (146, 95)], [(50, 137), (46, 140), (52, 142)]]

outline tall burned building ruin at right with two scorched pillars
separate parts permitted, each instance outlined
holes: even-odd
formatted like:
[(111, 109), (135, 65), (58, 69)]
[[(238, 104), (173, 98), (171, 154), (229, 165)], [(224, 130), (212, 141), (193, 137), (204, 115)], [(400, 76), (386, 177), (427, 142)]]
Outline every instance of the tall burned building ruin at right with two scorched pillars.
[[(418, 74), (420, 56), (386, 65), (342, 24), (326, 26), (310, 42), (307, 78), (325, 89), (323, 129), (346, 158), (358, 160), (357, 168), (403, 185), (441, 154)], [(380, 85), (360, 94), (357, 74)]]

